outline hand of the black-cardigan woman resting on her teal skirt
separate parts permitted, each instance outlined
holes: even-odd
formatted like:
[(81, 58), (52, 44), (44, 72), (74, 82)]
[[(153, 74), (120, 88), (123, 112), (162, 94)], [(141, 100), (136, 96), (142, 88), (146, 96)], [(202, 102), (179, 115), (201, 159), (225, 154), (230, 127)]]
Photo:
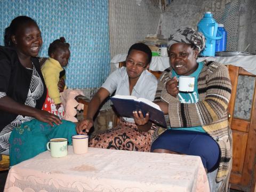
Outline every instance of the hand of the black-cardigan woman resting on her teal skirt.
[(37, 110), (35, 114), (35, 118), (39, 121), (45, 122), (53, 126), (53, 123), (59, 125), (61, 124), (61, 120), (58, 116), (49, 113), (45, 110)]

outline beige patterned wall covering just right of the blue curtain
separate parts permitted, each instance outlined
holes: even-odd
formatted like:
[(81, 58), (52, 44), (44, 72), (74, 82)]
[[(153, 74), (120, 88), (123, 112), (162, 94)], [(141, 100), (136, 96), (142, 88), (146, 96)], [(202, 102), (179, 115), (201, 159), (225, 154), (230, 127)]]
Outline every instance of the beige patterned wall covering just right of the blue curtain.
[(109, 0), (111, 57), (156, 34), (160, 14), (159, 0)]

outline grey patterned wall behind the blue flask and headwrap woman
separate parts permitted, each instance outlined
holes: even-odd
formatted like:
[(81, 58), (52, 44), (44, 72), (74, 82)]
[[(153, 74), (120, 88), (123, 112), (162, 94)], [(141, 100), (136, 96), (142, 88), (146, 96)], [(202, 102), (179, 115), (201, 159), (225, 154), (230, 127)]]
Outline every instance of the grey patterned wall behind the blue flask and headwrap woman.
[(227, 51), (236, 51), (238, 42), (239, 7), (241, 0), (190, 0), (172, 1), (162, 15), (163, 35), (169, 37), (182, 26), (197, 30), (198, 22), (206, 11), (211, 11), (218, 23), (228, 31)]

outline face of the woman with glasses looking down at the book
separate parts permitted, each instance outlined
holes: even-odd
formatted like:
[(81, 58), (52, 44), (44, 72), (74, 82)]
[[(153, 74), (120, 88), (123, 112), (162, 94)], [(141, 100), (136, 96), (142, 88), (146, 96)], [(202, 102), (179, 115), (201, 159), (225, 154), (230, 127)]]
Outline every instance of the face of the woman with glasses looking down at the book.
[(148, 55), (145, 52), (132, 50), (126, 58), (126, 71), (130, 78), (139, 79), (141, 73), (148, 69)]

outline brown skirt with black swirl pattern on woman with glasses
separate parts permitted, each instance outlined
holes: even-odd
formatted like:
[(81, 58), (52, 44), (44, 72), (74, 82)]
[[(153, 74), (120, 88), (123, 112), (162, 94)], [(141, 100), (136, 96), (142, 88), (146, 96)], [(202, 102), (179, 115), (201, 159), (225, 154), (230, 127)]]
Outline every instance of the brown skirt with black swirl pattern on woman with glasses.
[(153, 125), (147, 132), (139, 131), (137, 125), (121, 118), (114, 129), (98, 133), (91, 138), (89, 147), (149, 152), (155, 130)]

